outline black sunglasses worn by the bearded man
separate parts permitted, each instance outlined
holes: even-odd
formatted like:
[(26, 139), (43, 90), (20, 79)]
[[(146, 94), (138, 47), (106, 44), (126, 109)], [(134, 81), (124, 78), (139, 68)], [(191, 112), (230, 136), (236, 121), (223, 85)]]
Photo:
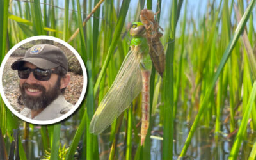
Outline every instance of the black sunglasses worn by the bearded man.
[(31, 69), (24, 67), (18, 70), (18, 75), (20, 79), (27, 79), (30, 72), (33, 72), (35, 79), (37, 79), (38, 81), (48, 81), (51, 78), (52, 73), (58, 73), (56, 70), (43, 70), (40, 68)]

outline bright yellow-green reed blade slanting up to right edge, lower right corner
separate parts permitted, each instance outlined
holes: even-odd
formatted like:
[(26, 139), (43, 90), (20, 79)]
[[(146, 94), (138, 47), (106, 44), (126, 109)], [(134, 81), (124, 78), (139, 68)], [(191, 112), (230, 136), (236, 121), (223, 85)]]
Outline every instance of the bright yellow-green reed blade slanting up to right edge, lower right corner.
[(246, 110), (244, 111), (243, 119), (239, 127), (239, 130), (237, 132), (236, 139), (235, 139), (234, 145), (232, 146), (230, 156), (228, 157), (228, 159), (237, 159), (239, 148), (241, 147), (241, 143), (244, 139), (244, 134), (246, 133), (247, 123), (252, 111), (252, 106), (255, 100), (255, 96), (256, 96), (256, 81), (254, 81), (253, 83), (252, 92), (250, 93), (250, 98), (248, 100)]

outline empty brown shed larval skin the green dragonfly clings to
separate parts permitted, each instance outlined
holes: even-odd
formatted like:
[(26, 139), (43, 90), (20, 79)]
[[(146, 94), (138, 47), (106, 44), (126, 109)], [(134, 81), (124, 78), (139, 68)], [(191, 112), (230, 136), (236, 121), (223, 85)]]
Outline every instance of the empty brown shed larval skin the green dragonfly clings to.
[(163, 77), (163, 72), (165, 68), (165, 55), (163, 44), (160, 41), (163, 33), (159, 32), (159, 29), (163, 31), (163, 28), (161, 28), (161, 26), (159, 26), (159, 24), (157, 23), (157, 20), (154, 19), (154, 16), (157, 15), (159, 11), (154, 14), (152, 10), (141, 10), (140, 20), (146, 28), (146, 37), (148, 40), (149, 54), (151, 60), (157, 72), (160, 74), (161, 77)]

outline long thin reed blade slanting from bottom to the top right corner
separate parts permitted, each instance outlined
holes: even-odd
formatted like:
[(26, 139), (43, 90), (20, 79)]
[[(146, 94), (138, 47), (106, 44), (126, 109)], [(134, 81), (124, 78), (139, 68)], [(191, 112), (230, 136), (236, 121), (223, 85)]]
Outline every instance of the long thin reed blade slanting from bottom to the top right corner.
[(246, 9), (246, 12), (244, 12), (244, 15), (243, 15), (241, 21), (237, 25), (234, 36), (231, 38), (231, 40), (228, 44), (228, 47), (227, 47), (226, 51), (224, 52), (224, 54), (221, 58), (220, 65), (218, 66), (218, 69), (215, 72), (214, 77), (212, 78), (211, 85), (209, 86), (209, 89), (207, 90), (207, 93), (205, 94), (204, 100), (200, 104), (200, 109), (198, 111), (198, 114), (196, 115), (195, 121), (194, 121), (194, 123), (193, 123), (193, 125), (190, 129), (190, 132), (188, 134), (188, 138), (185, 142), (184, 147), (182, 148), (182, 152), (181, 152), (179, 157), (184, 157), (185, 154), (186, 154), (186, 151), (188, 150), (189, 144), (190, 144), (192, 136), (193, 136), (193, 134), (196, 130), (196, 127), (198, 125), (200, 117), (204, 113), (205, 108), (206, 108), (205, 106), (206, 106), (207, 102), (209, 101), (211, 93), (214, 90), (215, 83), (218, 80), (218, 77), (220, 76), (220, 73), (221, 73), (221, 71), (223, 70), (223, 67), (226, 64), (226, 62), (228, 60), (228, 57), (230, 56), (232, 50), (234, 49), (234, 47), (236, 45), (236, 42), (237, 42), (239, 36), (241, 35), (241, 33), (244, 29), (244, 26), (246, 25), (246, 22), (247, 22), (248, 18), (250, 17), (250, 13), (252, 12), (254, 4), (255, 4), (255, 0), (251, 1), (251, 3), (248, 5), (248, 8)]

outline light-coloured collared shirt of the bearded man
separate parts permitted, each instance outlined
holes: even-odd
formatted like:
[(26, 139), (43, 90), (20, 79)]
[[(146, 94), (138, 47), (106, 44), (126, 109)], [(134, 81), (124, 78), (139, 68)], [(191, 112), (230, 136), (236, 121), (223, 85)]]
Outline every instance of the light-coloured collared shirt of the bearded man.
[[(53, 100), (42, 112), (36, 115), (33, 120), (53, 120), (67, 113), (73, 104), (65, 100), (63, 95), (59, 95), (57, 99)], [(31, 118), (31, 109), (24, 108), (21, 115)]]

